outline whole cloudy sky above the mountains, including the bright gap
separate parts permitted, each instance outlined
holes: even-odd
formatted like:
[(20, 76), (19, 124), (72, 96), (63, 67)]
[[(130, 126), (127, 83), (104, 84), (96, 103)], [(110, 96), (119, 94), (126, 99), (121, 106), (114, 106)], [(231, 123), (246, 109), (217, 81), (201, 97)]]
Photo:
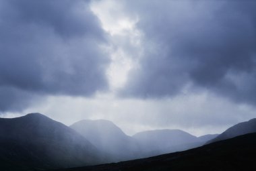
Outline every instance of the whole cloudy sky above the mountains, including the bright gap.
[(0, 117), (221, 133), (256, 117), (256, 1), (0, 0)]

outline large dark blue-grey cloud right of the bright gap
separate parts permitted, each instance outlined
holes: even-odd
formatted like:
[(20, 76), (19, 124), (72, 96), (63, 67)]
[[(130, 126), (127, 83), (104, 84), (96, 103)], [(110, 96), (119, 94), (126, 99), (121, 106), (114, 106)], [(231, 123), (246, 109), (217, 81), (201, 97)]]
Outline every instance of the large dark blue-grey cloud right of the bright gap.
[(200, 87), (256, 104), (255, 1), (127, 1), (143, 32), (125, 95), (164, 97)]

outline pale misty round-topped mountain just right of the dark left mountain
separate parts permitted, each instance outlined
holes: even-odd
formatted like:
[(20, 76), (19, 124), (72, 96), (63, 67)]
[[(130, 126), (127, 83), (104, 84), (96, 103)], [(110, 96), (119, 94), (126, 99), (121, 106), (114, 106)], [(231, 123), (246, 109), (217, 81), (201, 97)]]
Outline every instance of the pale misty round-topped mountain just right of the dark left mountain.
[(112, 154), (116, 161), (131, 160), (141, 156), (136, 141), (111, 121), (85, 119), (70, 127), (84, 135), (99, 150)]

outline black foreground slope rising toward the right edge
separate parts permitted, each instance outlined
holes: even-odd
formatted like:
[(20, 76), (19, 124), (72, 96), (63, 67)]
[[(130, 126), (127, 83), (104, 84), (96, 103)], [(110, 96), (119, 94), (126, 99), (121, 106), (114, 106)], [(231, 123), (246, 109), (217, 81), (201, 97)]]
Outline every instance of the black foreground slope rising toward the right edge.
[(256, 133), (218, 141), (184, 152), (59, 171), (69, 170), (256, 170)]

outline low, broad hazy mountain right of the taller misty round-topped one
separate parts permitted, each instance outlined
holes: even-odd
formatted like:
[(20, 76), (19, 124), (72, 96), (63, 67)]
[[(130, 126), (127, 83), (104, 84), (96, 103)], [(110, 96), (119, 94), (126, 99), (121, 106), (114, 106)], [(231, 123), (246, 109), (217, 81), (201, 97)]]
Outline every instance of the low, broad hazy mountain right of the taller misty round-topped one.
[(143, 131), (133, 135), (147, 156), (177, 152), (197, 147), (197, 137), (179, 129)]

